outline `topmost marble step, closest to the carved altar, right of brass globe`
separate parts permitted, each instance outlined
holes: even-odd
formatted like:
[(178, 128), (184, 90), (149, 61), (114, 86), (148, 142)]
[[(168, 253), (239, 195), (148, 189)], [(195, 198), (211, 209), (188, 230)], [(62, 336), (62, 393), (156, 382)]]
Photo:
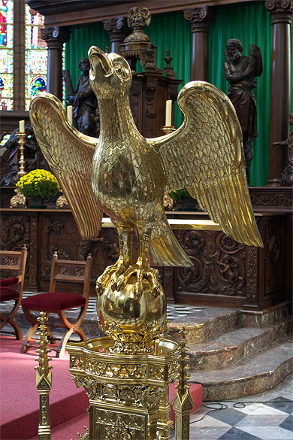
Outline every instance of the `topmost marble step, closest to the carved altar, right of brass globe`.
[(210, 337), (244, 325), (241, 312), (235, 308), (207, 307), (200, 313), (191, 313), (184, 318), (173, 319), (168, 323), (170, 338), (180, 341), (179, 330), (185, 325), (187, 341), (201, 342)]

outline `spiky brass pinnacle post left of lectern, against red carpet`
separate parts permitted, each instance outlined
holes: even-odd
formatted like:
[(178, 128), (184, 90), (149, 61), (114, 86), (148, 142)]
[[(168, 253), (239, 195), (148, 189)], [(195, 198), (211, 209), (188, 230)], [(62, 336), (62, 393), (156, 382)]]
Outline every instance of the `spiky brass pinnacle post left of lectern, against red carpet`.
[(52, 373), (51, 367), (49, 365), (49, 361), (51, 358), (48, 358), (48, 353), (51, 352), (50, 348), (47, 348), (48, 339), (47, 336), (49, 333), (47, 332), (46, 321), (47, 321), (46, 313), (41, 312), (41, 315), (37, 320), (40, 325), (40, 332), (37, 335), (40, 336), (40, 340), (37, 341), (37, 344), (40, 345), (40, 348), (36, 350), (39, 354), (35, 360), (39, 362), (39, 366), (35, 367), (37, 370), (36, 373), (36, 388), (40, 395), (40, 423), (38, 429), (38, 437), (39, 440), (51, 440), (51, 426), (50, 426), (50, 414), (49, 414), (49, 394), (52, 386)]

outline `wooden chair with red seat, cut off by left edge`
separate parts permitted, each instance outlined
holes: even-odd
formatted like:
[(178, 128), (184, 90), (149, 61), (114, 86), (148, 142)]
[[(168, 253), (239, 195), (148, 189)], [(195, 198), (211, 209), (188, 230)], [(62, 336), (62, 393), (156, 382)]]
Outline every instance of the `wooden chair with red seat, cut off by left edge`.
[[(25, 280), (25, 263), (27, 258), (26, 245), (21, 251), (0, 251), (0, 302), (14, 301), (14, 305), (10, 312), (0, 312), (0, 330), (6, 325), (10, 324), (15, 331), (16, 339), (22, 339), (22, 331), (18, 324), (14, 321), (20, 303), (22, 301), (23, 283)], [(11, 278), (3, 278), (3, 271), (15, 272), (15, 276)]]

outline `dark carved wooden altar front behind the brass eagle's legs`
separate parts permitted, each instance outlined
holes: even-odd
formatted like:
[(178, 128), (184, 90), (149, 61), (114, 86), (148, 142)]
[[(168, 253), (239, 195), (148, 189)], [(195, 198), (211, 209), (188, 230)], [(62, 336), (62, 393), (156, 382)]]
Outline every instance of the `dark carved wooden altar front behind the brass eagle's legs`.
[[(170, 215), (174, 216), (173, 213)], [(184, 217), (184, 213), (180, 215)], [(242, 245), (219, 231), (175, 231), (194, 267), (158, 268), (166, 298), (190, 304), (198, 304), (199, 301), (201, 304), (221, 303), (237, 307), (244, 304), (244, 307), (252, 309), (284, 301), (286, 288), (292, 291), (292, 277), (285, 287), (285, 273), (291, 271), (291, 261), (286, 258), (285, 226), (288, 215), (263, 213), (257, 216), (264, 249)], [(190, 214), (186, 218), (188, 216)], [(64, 260), (86, 260), (91, 253), (90, 294), (94, 296), (96, 279), (119, 256), (115, 228), (103, 228), (97, 239), (83, 241), (69, 210), (45, 209), (37, 212), (3, 209), (0, 227), (2, 249), (20, 250), (24, 244), (28, 245), (27, 290), (48, 289), (51, 259), (55, 251)], [(135, 234), (133, 239), (135, 259), (138, 248)], [(72, 290), (72, 283), (63, 284), (62, 290)]]

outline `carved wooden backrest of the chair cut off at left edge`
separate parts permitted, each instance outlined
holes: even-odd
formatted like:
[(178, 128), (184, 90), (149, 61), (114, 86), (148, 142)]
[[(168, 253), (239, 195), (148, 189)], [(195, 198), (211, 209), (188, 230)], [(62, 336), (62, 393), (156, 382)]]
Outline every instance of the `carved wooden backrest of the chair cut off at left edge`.
[(3, 278), (2, 271), (15, 272), (15, 276), (18, 276), (18, 288), (21, 293), (25, 281), (25, 264), (27, 255), (28, 250), (26, 245), (23, 246), (21, 251), (0, 250), (0, 278)]

